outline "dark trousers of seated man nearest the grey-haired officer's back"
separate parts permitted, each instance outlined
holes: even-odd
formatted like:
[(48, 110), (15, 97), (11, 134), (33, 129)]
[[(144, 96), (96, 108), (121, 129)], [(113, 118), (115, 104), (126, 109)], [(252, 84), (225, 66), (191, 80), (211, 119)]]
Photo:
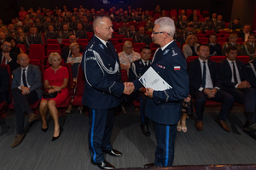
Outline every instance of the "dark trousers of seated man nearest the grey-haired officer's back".
[(195, 112), (198, 120), (203, 120), (203, 113), (205, 111), (207, 99), (223, 103), (218, 113), (219, 121), (225, 121), (227, 119), (227, 116), (234, 105), (233, 96), (223, 90), (218, 90), (213, 98), (208, 98), (207, 94), (204, 94), (201, 91), (195, 91), (193, 97), (195, 99)]

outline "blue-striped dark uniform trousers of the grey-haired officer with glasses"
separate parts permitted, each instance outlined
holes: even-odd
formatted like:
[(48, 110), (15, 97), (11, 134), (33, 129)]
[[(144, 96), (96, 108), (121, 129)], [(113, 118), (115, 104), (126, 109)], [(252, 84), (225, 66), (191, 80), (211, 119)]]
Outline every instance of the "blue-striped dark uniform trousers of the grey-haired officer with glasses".
[(163, 125), (154, 122), (157, 146), (154, 165), (156, 167), (170, 167), (174, 157), (174, 140), (177, 125)]

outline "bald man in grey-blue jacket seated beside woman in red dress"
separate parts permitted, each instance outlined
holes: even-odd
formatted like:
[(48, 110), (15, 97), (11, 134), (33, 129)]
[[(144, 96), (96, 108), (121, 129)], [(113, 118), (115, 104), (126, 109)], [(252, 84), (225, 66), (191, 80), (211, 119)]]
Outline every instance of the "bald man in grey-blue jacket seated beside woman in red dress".
[(20, 144), (25, 137), (24, 113), (28, 114), (28, 123), (37, 120), (38, 116), (32, 112), (30, 104), (42, 98), (42, 79), (39, 67), (29, 64), (27, 54), (19, 54), (17, 62), (20, 67), (13, 71), (11, 85), (12, 95), (15, 99), (16, 119), (16, 135), (13, 144), (11, 144), (12, 148)]

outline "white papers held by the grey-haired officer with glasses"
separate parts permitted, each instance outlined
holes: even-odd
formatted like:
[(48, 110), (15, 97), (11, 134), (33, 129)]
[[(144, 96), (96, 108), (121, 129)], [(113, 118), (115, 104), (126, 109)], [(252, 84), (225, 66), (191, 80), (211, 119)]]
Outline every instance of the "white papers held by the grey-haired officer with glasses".
[(163, 91), (172, 88), (152, 67), (148, 68), (148, 71), (139, 78), (139, 81), (145, 88), (152, 88), (154, 90)]

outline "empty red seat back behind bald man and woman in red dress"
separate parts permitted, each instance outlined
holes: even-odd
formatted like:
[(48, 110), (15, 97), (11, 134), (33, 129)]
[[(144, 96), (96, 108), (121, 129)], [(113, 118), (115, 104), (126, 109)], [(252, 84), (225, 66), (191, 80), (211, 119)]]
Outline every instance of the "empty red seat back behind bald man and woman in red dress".
[(28, 54), (29, 59), (40, 59), (41, 62), (44, 61), (44, 47), (41, 44), (31, 44)]

